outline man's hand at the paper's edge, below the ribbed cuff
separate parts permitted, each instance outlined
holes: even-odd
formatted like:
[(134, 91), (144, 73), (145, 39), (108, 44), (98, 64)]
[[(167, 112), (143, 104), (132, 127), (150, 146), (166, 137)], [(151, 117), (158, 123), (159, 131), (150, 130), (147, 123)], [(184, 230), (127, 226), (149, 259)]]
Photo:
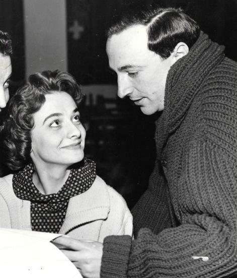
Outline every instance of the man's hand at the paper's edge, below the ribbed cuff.
[(85, 278), (99, 278), (103, 244), (91, 240), (58, 237), (52, 241)]

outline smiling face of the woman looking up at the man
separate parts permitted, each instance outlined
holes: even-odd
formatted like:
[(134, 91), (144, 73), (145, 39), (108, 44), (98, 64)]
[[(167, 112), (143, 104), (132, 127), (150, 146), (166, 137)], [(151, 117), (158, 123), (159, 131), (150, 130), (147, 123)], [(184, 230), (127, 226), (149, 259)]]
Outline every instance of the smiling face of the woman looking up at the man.
[(72, 97), (53, 91), (33, 115), (31, 158), (37, 165), (65, 165), (83, 160), (86, 130)]

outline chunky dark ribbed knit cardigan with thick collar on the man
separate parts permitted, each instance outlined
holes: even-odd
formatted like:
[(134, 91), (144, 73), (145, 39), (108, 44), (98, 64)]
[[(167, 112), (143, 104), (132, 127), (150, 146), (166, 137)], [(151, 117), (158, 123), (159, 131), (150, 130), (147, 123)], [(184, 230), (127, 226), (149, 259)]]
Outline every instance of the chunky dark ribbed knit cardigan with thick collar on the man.
[(105, 238), (101, 278), (237, 273), (237, 63), (202, 32), (170, 68), (155, 142), (136, 239)]

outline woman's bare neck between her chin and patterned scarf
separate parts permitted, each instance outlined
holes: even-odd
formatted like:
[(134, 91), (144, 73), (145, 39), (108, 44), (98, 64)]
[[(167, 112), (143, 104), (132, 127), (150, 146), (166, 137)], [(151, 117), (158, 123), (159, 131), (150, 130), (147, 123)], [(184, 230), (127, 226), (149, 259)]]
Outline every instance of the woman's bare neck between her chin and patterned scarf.
[(70, 170), (66, 166), (35, 165), (33, 183), (42, 194), (57, 193), (66, 182)]

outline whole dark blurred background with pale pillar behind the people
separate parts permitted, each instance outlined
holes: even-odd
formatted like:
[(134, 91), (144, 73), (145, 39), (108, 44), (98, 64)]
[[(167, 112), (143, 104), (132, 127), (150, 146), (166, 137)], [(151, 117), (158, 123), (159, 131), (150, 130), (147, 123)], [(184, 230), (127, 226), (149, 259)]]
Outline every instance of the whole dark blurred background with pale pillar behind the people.
[[(146, 189), (155, 159), (154, 120), (117, 98), (105, 52), (105, 29), (124, 9), (181, 7), (237, 60), (237, 0), (0, 0), (0, 29), (13, 39), (10, 93), (45, 69), (68, 71), (82, 85), (85, 153), (97, 174), (132, 208)], [(2, 112), (2, 115), (4, 110)], [(2, 167), (0, 175), (9, 173)]]

